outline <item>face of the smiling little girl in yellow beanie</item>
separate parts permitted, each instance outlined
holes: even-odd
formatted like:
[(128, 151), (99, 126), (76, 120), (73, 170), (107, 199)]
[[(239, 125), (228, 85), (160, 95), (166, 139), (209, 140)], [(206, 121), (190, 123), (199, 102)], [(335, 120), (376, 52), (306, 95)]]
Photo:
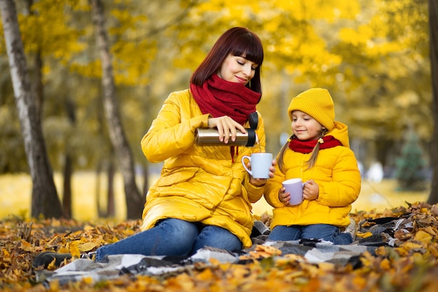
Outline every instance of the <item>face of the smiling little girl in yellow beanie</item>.
[(307, 113), (292, 111), (292, 132), (299, 140), (319, 139), (323, 128), (323, 125)]

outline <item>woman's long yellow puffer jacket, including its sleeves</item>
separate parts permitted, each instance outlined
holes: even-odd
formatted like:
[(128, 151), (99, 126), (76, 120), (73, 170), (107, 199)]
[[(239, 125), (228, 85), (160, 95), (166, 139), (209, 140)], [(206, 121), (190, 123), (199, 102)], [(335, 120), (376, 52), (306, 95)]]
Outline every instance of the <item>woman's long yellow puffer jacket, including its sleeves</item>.
[(262, 197), (263, 187), (249, 182), (241, 158), (264, 152), (264, 123), (259, 114), (254, 147), (197, 146), (195, 130), (208, 127), (208, 119), (190, 90), (173, 92), (141, 140), (150, 162), (164, 161), (160, 179), (146, 195), (142, 230), (160, 219), (178, 218), (225, 228), (249, 247), (251, 203)]

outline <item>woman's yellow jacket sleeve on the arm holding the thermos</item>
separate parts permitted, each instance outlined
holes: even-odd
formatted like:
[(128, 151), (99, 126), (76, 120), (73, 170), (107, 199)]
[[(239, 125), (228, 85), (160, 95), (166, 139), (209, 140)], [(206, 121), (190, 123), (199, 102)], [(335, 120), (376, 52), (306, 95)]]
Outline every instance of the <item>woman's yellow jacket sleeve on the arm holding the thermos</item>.
[(160, 162), (183, 153), (195, 144), (197, 127), (207, 127), (209, 114), (185, 118), (190, 113), (190, 92), (172, 92), (157, 118), (141, 139), (141, 150), (150, 162)]

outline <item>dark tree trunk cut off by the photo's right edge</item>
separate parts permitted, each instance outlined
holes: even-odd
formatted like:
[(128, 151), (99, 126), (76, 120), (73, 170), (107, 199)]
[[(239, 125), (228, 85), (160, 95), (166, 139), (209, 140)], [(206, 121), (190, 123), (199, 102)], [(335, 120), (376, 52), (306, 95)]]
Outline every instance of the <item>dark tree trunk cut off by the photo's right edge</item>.
[(432, 183), (428, 203), (438, 203), (438, 2), (429, 0), (429, 27), (430, 27), (430, 66), (432, 75), (432, 116), (433, 134), (432, 149), (430, 151), (430, 165), (432, 165)]

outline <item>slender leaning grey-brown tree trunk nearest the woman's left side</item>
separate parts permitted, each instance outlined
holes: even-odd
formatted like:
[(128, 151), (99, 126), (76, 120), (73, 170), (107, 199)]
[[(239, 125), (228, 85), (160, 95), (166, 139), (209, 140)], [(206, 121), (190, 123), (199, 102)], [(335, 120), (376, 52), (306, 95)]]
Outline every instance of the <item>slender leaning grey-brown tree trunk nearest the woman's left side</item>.
[(111, 54), (109, 53), (108, 36), (104, 27), (104, 8), (100, 0), (90, 1), (92, 4), (93, 23), (96, 29), (97, 45), (101, 55), (104, 111), (111, 144), (113, 145), (115, 156), (118, 158), (123, 175), (127, 218), (141, 218), (143, 198), (140, 195), (139, 188), (136, 186), (133, 155), (122, 127), (118, 100), (115, 94), (113, 64)]

